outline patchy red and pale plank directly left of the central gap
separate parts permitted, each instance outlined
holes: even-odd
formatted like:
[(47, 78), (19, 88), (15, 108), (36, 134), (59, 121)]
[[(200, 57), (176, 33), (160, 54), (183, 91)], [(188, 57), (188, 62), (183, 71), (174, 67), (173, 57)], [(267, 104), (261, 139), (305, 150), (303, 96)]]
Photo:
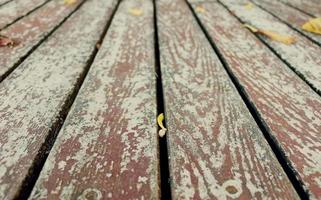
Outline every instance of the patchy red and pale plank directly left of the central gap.
[(31, 199), (160, 198), (154, 65), (152, 1), (123, 0)]

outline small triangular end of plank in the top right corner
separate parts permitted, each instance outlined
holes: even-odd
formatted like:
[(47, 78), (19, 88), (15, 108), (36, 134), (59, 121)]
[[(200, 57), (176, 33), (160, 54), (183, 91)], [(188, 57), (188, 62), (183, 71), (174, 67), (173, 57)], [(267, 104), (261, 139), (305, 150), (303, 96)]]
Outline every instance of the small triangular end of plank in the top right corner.
[(320, 0), (280, 0), (315, 17), (321, 17)]

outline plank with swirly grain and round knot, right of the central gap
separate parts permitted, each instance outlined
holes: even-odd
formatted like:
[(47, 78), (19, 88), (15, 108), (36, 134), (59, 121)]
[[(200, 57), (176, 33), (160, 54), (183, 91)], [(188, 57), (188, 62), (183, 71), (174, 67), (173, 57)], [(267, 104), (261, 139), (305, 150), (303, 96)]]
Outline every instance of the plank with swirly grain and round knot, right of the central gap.
[(173, 199), (298, 199), (185, 1), (156, 2)]

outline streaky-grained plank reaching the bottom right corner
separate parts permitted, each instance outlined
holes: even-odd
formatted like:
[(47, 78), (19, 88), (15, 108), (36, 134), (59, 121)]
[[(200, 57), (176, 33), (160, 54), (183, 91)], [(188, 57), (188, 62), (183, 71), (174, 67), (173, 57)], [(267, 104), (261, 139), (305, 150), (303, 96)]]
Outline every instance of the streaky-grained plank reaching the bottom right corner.
[[(256, 107), (271, 137), (304, 182), (311, 198), (321, 197), (321, 98), (245, 29), (223, 6), (198, 12), (228, 68)], [(277, 187), (275, 187), (277, 188)]]

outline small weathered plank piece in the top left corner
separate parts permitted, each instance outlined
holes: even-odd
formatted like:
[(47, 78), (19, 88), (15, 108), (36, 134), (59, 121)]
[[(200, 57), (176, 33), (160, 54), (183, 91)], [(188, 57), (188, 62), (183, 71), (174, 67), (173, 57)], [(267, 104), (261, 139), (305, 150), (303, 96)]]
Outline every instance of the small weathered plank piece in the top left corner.
[[(25, 16), (47, 0), (14, 0), (0, 8), (0, 30), (16, 19)], [(55, 0), (57, 1), (57, 0)]]

